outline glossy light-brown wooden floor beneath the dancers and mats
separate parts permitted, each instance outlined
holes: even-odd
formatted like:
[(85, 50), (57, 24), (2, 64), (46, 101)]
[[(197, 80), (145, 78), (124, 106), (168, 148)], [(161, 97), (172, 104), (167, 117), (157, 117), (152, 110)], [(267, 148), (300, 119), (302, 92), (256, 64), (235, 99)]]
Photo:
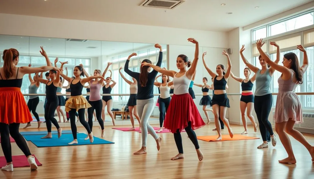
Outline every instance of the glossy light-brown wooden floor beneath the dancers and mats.
[[(120, 127), (120, 126), (119, 126)], [(128, 126), (124, 126), (128, 127)], [(206, 125), (195, 130), (197, 135), (216, 135), (212, 131), (214, 124)], [(232, 125), (235, 134), (240, 134), (243, 127)], [(27, 129), (20, 131), (36, 131)], [(44, 130), (44, 129), (39, 129)], [(63, 128), (70, 130), (70, 128)], [(296, 165), (279, 164), (278, 160), (287, 156), (279, 138), (277, 146), (271, 144), (269, 148), (257, 149), (262, 139), (242, 141), (206, 142), (198, 141), (204, 154), (204, 160), (198, 161), (192, 142), (186, 133), (182, 133), (185, 158), (171, 161), (178, 151), (173, 139), (173, 134), (159, 134), (162, 138), (160, 151), (156, 149), (156, 143), (148, 136), (148, 153), (133, 155), (141, 147), (141, 133), (123, 132), (105, 128), (105, 140), (115, 144), (83, 145), (38, 148), (31, 142), (27, 142), (32, 154), (43, 164), (37, 171), (30, 171), (29, 167), (14, 168), (14, 172), (0, 171), (0, 178), (113, 178), (113, 179), (259, 179), (259, 178), (314, 178), (314, 165), (304, 146), (291, 138), (292, 146), (297, 159)], [(78, 128), (78, 132), (84, 132), (84, 128)], [(248, 136), (260, 137), (259, 132), (254, 133), (249, 127)], [(227, 130), (223, 131), (228, 134)], [(100, 129), (94, 126), (94, 136), (100, 136)], [(311, 144), (314, 144), (314, 135), (305, 134)], [(23, 155), (22, 151), (12, 145), (13, 155)], [(2, 151), (0, 156), (3, 156)]]

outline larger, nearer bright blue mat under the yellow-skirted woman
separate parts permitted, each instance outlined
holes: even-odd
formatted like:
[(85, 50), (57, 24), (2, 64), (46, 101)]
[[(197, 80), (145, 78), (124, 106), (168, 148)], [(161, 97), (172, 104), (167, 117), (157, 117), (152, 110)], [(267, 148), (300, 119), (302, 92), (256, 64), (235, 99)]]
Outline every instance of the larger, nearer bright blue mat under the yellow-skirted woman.
[(27, 141), (31, 141), (37, 147), (55, 147), (55, 146), (79, 146), (79, 145), (96, 145), (96, 144), (114, 144), (114, 142), (106, 141), (104, 139), (100, 139), (94, 136), (94, 142), (90, 143), (89, 140), (84, 140), (87, 134), (78, 133), (77, 139), (78, 144), (68, 145), (69, 142), (73, 141), (72, 134), (62, 134), (62, 136), (58, 139), (57, 134), (53, 134), (50, 139), (41, 139), (41, 137), (46, 135), (27, 135), (24, 138)]

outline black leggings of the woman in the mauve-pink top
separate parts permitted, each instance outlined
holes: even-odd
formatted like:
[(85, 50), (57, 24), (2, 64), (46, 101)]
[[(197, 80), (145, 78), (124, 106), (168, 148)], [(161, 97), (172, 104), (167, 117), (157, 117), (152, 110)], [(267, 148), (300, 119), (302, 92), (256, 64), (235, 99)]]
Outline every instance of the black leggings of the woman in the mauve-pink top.
[(101, 127), (101, 130), (104, 130), (104, 121), (101, 119), (101, 109), (102, 109), (102, 101), (88, 101), (88, 103), (92, 106), (87, 109), (88, 113), (88, 125), (90, 128), (90, 131), (93, 131), (93, 113), (94, 110), (96, 111), (96, 119), (99, 122), (99, 125)]

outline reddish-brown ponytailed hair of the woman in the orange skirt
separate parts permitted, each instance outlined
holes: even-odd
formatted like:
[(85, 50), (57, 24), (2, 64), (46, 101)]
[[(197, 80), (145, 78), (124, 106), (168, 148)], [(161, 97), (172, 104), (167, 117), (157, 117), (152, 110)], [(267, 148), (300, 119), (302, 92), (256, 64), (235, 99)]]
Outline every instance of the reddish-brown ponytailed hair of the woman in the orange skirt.
[(6, 49), (3, 51), (3, 72), (6, 79), (10, 78), (12, 73), (12, 62), (19, 57), (19, 51), (17, 49)]

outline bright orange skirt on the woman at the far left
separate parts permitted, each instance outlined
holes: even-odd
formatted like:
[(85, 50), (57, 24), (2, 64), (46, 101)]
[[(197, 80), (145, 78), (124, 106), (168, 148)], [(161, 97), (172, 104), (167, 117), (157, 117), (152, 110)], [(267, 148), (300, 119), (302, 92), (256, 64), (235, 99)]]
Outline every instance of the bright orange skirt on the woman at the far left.
[(21, 89), (17, 87), (0, 88), (0, 122), (12, 124), (28, 123), (32, 120)]

